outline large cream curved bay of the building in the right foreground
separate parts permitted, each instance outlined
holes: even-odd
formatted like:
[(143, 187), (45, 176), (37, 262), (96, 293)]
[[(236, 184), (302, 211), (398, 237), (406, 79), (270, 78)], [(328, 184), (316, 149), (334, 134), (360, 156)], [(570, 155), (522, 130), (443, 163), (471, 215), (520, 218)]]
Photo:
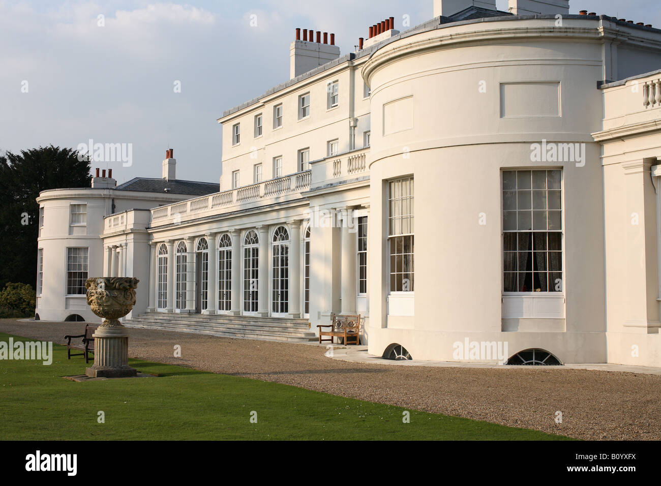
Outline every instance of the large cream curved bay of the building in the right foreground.
[[(370, 290), (383, 298), (372, 300), (371, 354), (401, 343), (415, 358), (452, 360), (454, 344), (468, 338), (508, 342), (512, 352), (548, 348), (563, 362), (605, 360), (602, 167), (591, 136), (602, 118), (602, 42), (594, 20), (567, 19), (551, 31), (548, 23), (436, 28), (391, 42), (366, 64), (372, 241), (388, 233), (384, 181), (412, 176), (414, 253), (424, 261), (412, 311), (401, 312), (389, 302), (389, 243), (372, 245)], [(531, 145), (544, 140), (581, 144), (584, 161), (531, 160)], [(502, 178), (532, 169), (561, 174), (559, 292), (503, 288)], [(548, 225), (534, 234), (547, 237), (537, 231)]]

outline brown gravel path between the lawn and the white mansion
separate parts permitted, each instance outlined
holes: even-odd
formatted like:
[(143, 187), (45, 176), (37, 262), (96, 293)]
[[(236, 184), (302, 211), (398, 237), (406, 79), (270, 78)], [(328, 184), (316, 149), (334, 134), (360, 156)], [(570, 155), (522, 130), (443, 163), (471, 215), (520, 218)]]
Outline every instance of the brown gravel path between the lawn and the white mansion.
[[(63, 343), (84, 323), (0, 319), (0, 331)], [(562, 367), (432, 368), (332, 360), (308, 344), (128, 329), (130, 356), (588, 440), (661, 440), (661, 376)], [(182, 357), (173, 356), (179, 344)], [(555, 423), (556, 411), (563, 422)]]

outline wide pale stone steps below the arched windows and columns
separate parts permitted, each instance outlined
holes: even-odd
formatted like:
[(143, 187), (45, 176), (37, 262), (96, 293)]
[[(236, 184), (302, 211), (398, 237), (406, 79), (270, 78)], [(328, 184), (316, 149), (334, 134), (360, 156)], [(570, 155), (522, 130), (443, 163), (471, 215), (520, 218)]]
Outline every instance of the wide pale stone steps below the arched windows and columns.
[(308, 329), (307, 319), (278, 319), (245, 315), (206, 315), (147, 312), (124, 319), (126, 327), (161, 329), (210, 336), (307, 343), (317, 337)]

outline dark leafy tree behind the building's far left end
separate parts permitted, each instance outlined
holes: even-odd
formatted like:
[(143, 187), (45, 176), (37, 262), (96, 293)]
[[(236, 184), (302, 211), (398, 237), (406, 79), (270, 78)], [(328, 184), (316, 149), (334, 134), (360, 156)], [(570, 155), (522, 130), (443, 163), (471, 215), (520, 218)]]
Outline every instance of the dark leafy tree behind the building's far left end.
[(89, 187), (90, 170), (87, 157), (53, 145), (0, 156), (0, 288), (7, 282), (36, 288), (36, 198), (46, 189)]

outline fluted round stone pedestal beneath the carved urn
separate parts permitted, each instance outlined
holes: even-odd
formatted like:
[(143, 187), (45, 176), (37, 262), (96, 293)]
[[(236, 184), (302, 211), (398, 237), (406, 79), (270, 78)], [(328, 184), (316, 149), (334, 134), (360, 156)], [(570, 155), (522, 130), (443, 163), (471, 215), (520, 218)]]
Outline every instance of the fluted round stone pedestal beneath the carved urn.
[(128, 334), (122, 325), (99, 327), (94, 333), (94, 366), (85, 370), (92, 378), (123, 378), (136, 376), (128, 366)]

